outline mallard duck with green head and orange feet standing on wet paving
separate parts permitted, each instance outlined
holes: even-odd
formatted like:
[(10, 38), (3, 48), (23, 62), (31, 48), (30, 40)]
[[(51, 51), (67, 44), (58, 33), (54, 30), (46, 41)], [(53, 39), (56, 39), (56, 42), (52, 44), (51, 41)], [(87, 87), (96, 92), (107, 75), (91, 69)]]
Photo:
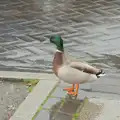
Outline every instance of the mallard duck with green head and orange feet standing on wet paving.
[(57, 47), (53, 59), (53, 72), (64, 82), (72, 84), (71, 88), (64, 88), (69, 95), (77, 96), (79, 85), (95, 81), (104, 75), (102, 69), (95, 68), (83, 62), (66, 62), (63, 39), (59, 35), (51, 36), (50, 42)]

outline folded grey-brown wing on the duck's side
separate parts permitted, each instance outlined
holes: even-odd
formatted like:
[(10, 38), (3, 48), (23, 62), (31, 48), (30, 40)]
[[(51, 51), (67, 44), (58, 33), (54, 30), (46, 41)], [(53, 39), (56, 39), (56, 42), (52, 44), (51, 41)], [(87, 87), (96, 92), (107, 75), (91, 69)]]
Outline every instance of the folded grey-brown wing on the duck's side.
[(87, 63), (82, 63), (82, 62), (71, 62), (69, 66), (90, 74), (99, 75), (102, 72), (101, 69), (97, 69), (91, 65), (88, 65)]

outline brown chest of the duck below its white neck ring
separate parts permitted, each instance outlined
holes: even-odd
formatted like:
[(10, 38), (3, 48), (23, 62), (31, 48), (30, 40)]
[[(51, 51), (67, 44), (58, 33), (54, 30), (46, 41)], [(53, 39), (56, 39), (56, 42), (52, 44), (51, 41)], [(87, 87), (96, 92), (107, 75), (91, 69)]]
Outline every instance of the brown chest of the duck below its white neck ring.
[(53, 72), (58, 75), (58, 69), (63, 64), (63, 53), (56, 52), (53, 59)]

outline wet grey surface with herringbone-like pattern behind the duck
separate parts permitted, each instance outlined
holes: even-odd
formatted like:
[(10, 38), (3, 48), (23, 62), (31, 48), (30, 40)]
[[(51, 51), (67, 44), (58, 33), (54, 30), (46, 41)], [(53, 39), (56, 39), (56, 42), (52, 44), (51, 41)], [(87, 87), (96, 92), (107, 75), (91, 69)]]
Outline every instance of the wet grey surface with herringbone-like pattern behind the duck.
[(52, 72), (49, 36), (107, 75), (92, 91), (120, 94), (119, 0), (1, 0), (0, 70)]

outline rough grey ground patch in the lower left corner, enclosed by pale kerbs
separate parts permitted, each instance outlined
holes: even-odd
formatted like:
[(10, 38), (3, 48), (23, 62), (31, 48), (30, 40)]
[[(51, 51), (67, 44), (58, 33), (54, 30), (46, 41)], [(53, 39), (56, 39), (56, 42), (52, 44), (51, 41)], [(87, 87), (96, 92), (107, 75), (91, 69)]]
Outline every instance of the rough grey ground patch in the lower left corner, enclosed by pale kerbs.
[(27, 95), (27, 87), (22, 82), (0, 79), (0, 120), (9, 120)]

